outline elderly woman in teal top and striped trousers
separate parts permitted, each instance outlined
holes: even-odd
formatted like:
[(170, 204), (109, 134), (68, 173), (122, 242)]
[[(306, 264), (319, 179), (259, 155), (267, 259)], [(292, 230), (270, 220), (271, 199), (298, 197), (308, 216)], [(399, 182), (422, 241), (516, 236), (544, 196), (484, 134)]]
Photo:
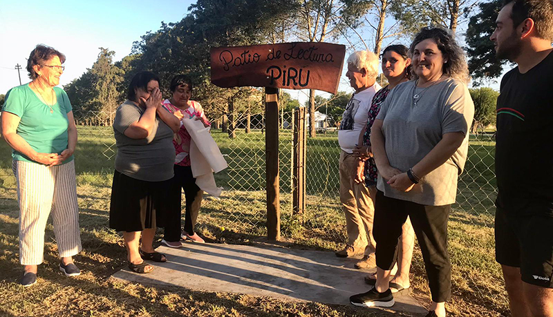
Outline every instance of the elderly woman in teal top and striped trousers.
[(50, 211), (57, 241), (59, 270), (79, 275), (72, 257), (81, 251), (75, 163), (77, 128), (71, 103), (57, 88), (65, 55), (38, 45), (30, 53), (29, 84), (8, 91), (2, 109), (2, 135), (13, 148), (12, 169), (19, 201), (21, 285), (37, 281), (44, 260), (44, 230)]

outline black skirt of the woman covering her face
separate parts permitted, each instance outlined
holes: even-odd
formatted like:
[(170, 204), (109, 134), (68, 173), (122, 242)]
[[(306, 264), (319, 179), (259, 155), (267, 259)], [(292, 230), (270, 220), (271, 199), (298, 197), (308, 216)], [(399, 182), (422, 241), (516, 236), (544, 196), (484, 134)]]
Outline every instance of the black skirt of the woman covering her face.
[(126, 232), (165, 227), (163, 219), (168, 210), (170, 181), (147, 182), (115, 171), (109, 205), (109, 227)]

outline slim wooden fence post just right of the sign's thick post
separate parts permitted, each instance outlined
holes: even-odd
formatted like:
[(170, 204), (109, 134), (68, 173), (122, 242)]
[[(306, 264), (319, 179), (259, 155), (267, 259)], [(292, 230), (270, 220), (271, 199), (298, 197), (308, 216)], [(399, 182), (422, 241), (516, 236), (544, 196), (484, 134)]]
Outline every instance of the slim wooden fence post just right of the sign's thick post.
[(292, 211), (306, 210), (306, 107), (294, 109), (294, 151), (292, 160)]

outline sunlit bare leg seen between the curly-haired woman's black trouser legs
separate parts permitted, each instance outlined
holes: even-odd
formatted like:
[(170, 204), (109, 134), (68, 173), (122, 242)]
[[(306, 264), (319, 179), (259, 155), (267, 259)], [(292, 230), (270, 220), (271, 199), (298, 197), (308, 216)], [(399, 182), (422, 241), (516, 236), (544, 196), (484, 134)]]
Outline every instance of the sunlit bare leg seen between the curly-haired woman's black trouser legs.
[(411, 286), (409, 282), (409, 271), (411, 270), (411, 259), (413, 258), (413, 247), (415, 246), (415, 231), (409, 217), (402, 227), (402, 238), (399, 245), (397, 258), (397, 273), (391, 282), (395, 282), (402, 287)]

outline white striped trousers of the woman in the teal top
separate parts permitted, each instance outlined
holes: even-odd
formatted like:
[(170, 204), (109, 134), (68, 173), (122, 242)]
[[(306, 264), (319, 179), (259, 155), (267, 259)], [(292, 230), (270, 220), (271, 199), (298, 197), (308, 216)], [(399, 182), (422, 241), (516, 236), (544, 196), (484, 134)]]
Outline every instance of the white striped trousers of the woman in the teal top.
[(13, 161), (19, 202), (19, 262), (44, 260), (44, 231), (50, 211), (60, 258), (81, 251), (75, 161), (46, 166)]

